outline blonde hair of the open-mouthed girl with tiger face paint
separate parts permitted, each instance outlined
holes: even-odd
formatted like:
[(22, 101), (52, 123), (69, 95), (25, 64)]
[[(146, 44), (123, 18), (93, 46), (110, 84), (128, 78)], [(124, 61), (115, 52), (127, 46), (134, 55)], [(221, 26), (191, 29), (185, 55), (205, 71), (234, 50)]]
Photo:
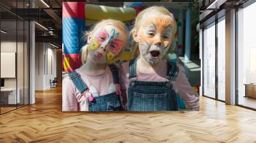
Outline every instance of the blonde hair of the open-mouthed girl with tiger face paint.
[[(133, 40), (133, 36), (132, 36), (132, 32), (134, 30), (138, 31), (138, 29), (141, 27), (141, 22), (143, 22), (143, 17), (150, 17), (148, 15), (152, 15), (152, 14), (157, 14), (157, 15), (166, 15), (168, 17), (170, 17), (173, 20), (173, 40), (172, 42), (176, 42), (175, 40), (175, 33), (177, 32), (177, 23), (176, 20), (174, 19), (172, 13), (170, 13), (170, 11), (168, 11), (166, 8), (164, 8), (163, 6), (151, 6), (149, 8), (146, 8), (145, 10), (141, 11), (138, 16), (135, 19), (135, 24), (134, 27), (132, 28), (132, 30), (129, 33), (129, 38), (131, 38), (131, 43), (132, 43), (132, 56), (134, 58), (140, 56), (140, 50), (139, 50), (139, 45), (138, 42)], [(172, 16), (171, 16), (172, 15)], [(174, 44), (176, 45), (176, 44)], [(175, 50), (175, 46), (171, 45), (169, 48), (169, 51)], [(167, 54), (168, 52), (166, 52)], [(166, 56), (164, 56), (166, 57)]]

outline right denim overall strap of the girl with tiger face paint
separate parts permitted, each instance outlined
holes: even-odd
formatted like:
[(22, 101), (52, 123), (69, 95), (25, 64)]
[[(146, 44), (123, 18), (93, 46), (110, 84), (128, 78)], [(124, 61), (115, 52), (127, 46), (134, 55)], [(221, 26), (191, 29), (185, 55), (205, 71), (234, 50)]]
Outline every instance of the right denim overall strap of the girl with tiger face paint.
[(168, 79), (169, 81), (175, 80), (178, 73), (179, 67), (177, 66), (177, 64), (172, 61), (168, 61), (166, 79)]

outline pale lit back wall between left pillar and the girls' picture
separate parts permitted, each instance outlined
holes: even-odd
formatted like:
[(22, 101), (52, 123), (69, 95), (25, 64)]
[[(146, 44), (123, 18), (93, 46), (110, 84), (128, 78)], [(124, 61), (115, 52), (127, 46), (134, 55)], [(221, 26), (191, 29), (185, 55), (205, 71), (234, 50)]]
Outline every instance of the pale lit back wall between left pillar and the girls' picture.
[(50, 79), (56, 77), (56, 49), (53, 48), (49, 43), (36, 43), (36, 90), (51, 88)]

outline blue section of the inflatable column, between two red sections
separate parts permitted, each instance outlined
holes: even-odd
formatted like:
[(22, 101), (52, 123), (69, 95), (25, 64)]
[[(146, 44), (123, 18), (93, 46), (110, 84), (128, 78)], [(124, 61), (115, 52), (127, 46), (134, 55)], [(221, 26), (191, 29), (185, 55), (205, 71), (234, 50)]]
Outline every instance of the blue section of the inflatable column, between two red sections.
[(62, 41), (64, 54), (78, 54), (84, 45), (83, 35), (85, 20), (80, 18), (63, 18)]

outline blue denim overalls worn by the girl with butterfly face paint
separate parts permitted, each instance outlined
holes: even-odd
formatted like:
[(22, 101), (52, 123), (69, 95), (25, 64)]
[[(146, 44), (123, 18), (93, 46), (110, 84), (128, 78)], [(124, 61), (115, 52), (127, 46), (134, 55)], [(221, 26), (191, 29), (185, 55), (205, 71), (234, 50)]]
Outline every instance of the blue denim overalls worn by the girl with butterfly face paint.
[[(118, 70), (115, 65), (109, 65), (109, 68), (112, 72), (113, 81), (116, 84), (120, 84)], [(83, 93), (88, 89), (88, 86), (84, 83), (81, 75), (74, 70), (71, 73), (68, 73), (68, 76), (78, 89), (80, 93)], [(120, 96), (114, 93), (109, 93), (105, 95), (100, 95), (93, 97), (93, 101), (89, 103), (89, 111), (115, 111), (115, 110), (124, 110), (120, 100)]]

